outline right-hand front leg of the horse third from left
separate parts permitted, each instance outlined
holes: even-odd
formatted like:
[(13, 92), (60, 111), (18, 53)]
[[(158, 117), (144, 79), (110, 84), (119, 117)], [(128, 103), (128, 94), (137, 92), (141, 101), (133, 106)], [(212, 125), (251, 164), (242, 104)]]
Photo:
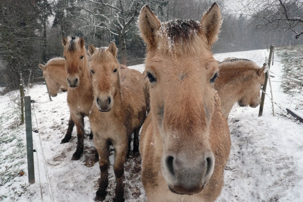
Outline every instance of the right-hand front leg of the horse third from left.
[[(125, 139), (127, 141), (128, 138)], [(115, 145), (115, 163), (114, 173), (116, 176), (116, 189), (114, 202), (124, 202), (124, 185), (123, 185), (123, 174), (124, 174), (124, 162), (127, 153), (127, 142), (120, 142)]]

